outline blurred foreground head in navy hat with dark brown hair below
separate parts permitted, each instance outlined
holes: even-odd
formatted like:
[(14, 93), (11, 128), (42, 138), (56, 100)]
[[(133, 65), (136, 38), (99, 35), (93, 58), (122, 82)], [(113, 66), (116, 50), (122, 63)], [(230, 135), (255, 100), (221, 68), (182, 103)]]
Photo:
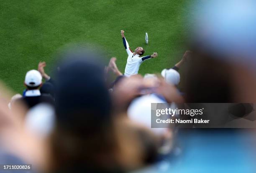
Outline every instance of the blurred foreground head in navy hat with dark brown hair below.
[(115, 139), (101, 57), (80, 50), (60, 58), (52, 136), (55, 166), (62, 169), (64, 164), (63, 169), (73, 170), (74, 165), (84, 169), (111, 167)]

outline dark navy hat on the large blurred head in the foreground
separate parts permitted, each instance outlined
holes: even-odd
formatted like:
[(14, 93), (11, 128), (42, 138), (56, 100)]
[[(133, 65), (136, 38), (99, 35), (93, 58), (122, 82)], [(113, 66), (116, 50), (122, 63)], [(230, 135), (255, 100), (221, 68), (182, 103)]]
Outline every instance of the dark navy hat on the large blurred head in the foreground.
[(80, 130), (99, 130), (110, 120), (110, 95), (99, 55), (73, 52), (63, 59), (55, 77), (59, 125), (82, 135)]

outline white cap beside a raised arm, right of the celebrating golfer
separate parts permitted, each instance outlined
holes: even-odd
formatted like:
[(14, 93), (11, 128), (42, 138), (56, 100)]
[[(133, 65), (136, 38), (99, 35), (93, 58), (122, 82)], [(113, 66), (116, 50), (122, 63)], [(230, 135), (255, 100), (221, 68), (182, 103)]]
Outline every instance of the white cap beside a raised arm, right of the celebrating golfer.
[(166, 83), (178, 85), (180, 80), (179, 72), (176, 70), (170, 68), (170, 69), (164, 69), (161, 72), (161, 75), (164, 77)]

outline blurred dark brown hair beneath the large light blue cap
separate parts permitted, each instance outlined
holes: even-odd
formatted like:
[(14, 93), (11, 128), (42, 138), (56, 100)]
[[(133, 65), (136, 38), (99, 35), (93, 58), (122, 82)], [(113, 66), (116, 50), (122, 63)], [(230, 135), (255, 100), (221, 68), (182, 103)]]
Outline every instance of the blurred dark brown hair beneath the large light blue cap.
[(187, 103), (233, 103), (230, 65), (214, 53), (192, 52), (193, 61), (185, 72)]

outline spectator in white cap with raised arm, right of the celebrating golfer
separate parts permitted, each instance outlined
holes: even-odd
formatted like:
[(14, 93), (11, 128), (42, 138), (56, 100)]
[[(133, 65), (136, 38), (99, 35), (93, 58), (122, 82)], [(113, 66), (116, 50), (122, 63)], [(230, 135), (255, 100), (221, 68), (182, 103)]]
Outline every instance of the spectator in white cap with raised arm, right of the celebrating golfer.
[(161, 72), (161, 75), (163, 76), (163, 78), (165, 79), (166, 83), (172, 84), (172, 85), (178, 85), (179, 81), (180, 81), (180, 75), (178, 70), (182, 67), (182, 65), (184, 64), (184, 62), (187, 61), (187, 59), (189, 58), (189, 53), (190, 51), (187, 50), (183, 57), (182, 60), (179, 61), (179, 63), (175, 64), (173, 68), (169, 68), (169, 69), (164, 69)]

